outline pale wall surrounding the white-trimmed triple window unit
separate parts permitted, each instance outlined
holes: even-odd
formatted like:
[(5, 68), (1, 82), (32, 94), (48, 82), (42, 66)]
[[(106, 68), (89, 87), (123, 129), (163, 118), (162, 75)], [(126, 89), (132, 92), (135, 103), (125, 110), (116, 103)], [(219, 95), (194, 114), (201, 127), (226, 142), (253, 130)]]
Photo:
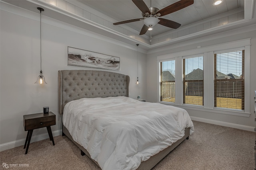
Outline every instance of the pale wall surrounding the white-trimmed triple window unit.
[[(242, 117), (236, 115), (228, 115), (222, 113), (214, 113), (210, 111), (198, 111), (186, 109), (189, 115), (194, 120), (204, 121), (217, 125), (224, 125), (228, 127), (235, 127), (245, 130), (254, 130), (254, 90), (256, 90), (256, 25), (226, 31), (224, 33), (215, 34), (192, 41), (177, 43), (162, 49), (149, 51), (147, 55), (147, 98), (148, 102), (158, 102), (158, 71), (156, 56), (176, 53), (191, 49), (197, 49), (198, 46), (209, 47), (211, 45), (218, 45), (221, 43), (228, 43), (242, 39), (251, 38), (250, 47), (250, 117)], [(177, 94), (178, 95), (178, 94)]]

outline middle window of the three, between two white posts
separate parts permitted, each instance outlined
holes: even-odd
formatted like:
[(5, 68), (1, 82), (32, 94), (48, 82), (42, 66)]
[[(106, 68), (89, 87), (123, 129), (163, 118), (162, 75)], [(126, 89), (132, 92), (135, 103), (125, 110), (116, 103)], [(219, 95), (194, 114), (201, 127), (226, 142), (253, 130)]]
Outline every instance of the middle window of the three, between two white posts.
[(183, 104), (204, 105), (204, 57), (183, 59)]

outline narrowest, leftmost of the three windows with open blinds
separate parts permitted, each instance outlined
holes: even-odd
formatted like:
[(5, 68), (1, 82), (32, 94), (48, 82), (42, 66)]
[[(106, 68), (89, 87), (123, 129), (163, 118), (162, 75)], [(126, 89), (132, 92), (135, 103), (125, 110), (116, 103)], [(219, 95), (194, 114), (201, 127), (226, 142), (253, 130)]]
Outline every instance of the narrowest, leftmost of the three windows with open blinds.
[(160, 101), (175, 103), (175, 60), (160, 62)]

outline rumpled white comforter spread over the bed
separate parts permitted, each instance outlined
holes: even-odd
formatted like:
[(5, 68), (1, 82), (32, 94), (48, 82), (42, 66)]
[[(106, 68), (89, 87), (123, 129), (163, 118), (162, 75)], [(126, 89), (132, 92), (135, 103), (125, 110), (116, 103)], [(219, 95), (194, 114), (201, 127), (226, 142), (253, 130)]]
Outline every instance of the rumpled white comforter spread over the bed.
[(135, 170), (194, 126), (187, 111), (128, 97), (82, 98), (66, 104), (63, 125), (103, 170)]

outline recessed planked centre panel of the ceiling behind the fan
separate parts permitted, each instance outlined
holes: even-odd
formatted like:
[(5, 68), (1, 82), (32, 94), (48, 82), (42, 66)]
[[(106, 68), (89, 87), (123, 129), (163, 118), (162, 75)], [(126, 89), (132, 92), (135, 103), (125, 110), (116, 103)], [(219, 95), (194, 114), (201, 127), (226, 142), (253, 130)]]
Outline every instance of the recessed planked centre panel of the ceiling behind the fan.
[[(142, 18), (142, 12), (132, 2), (132, 0), (79, 0), (79, 2), (97, 10), (116, 21)], [(145, 4), (150, 7), (150, 0), (144, 0)], [(152, 0), (151, 7), (162, 9), (174, 4), (178, 0)], [(232, 10), (244, 8), (244, 0), (224, 0), (220, 5), (214, 6), (214, 0), (194, 0), (194, 4), (163, 16), (162, 18), (172, 20), (181, 24), (181, 27), (224, 14)], [(128, 27), (140, 31), (143, 21), (126, 23)], [(156, 36), (174, 29), (156, 24), (152, 31), (147, 31), (146, 35)]]

